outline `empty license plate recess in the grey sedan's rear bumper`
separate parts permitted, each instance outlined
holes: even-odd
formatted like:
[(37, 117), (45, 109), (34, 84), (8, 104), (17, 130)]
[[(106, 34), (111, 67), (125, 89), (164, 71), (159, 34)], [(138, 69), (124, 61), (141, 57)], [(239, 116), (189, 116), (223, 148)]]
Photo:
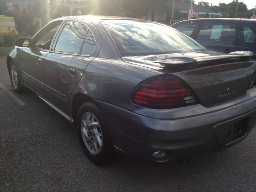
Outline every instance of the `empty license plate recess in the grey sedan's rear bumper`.
[(243, 140), (248, 133), (250, 117), (218, 124), (214, 127), (214, 133), (220, 149), (232, 146)]

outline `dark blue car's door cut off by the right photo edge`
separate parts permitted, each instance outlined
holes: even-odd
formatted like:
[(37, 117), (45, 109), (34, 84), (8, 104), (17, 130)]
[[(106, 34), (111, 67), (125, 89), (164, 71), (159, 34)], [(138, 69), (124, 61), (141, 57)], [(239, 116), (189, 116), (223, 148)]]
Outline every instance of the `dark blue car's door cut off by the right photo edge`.
[(239, 24), (239, 48), (241, 51), (251, 51), (256, 59), (256, 29), (247, 23)]

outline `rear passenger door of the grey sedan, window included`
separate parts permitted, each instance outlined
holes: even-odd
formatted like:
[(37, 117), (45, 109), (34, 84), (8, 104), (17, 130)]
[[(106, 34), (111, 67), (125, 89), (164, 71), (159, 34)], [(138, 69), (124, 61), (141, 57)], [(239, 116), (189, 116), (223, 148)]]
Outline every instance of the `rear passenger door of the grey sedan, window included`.
[(94, 27), (90, 22), (67, 20), (44, 60), (45, 98), (66, 114), (72, 91), (96, 57), (96, 39), (89, 26)]

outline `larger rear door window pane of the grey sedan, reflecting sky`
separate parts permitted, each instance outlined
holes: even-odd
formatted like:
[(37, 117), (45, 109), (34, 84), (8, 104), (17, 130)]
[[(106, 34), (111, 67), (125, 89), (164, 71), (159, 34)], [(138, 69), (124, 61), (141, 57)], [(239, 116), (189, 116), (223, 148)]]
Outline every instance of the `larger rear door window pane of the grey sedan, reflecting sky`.
[(80, 53), (84, 36), (87, 31), (88, 28), (80, 22), (67, 22), (60, 34), (55, 50), (61, 52)]

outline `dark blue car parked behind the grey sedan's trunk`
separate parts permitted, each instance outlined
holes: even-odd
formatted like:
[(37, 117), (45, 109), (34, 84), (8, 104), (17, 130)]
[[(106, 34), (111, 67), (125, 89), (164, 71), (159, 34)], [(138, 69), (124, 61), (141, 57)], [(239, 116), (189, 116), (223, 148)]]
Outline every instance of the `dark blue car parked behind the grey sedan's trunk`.
[(224, 53), (251, 51), (256, 59), (256, 20), (208, 18), (181, 21), (172, 27), (194, 38), (207, 48)]

